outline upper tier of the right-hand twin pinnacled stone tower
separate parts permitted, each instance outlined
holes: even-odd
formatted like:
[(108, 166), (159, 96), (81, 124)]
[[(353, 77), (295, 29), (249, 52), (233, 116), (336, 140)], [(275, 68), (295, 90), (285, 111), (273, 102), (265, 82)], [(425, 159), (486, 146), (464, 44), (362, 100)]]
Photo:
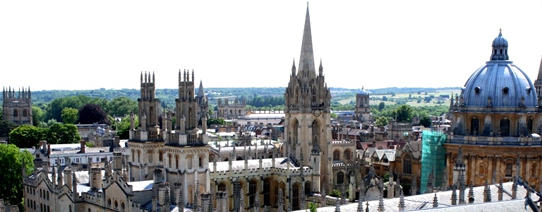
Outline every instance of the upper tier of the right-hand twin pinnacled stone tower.
[(181, 133), (186, 130), (198, 128), (198, 100), (194, 94), (194, 71), (192, 78), (190, 71), (184, 70), (181, 77), (179, 70), (179, 98), (175, 100), (176, 105), (176, 126), (175, 129)]

